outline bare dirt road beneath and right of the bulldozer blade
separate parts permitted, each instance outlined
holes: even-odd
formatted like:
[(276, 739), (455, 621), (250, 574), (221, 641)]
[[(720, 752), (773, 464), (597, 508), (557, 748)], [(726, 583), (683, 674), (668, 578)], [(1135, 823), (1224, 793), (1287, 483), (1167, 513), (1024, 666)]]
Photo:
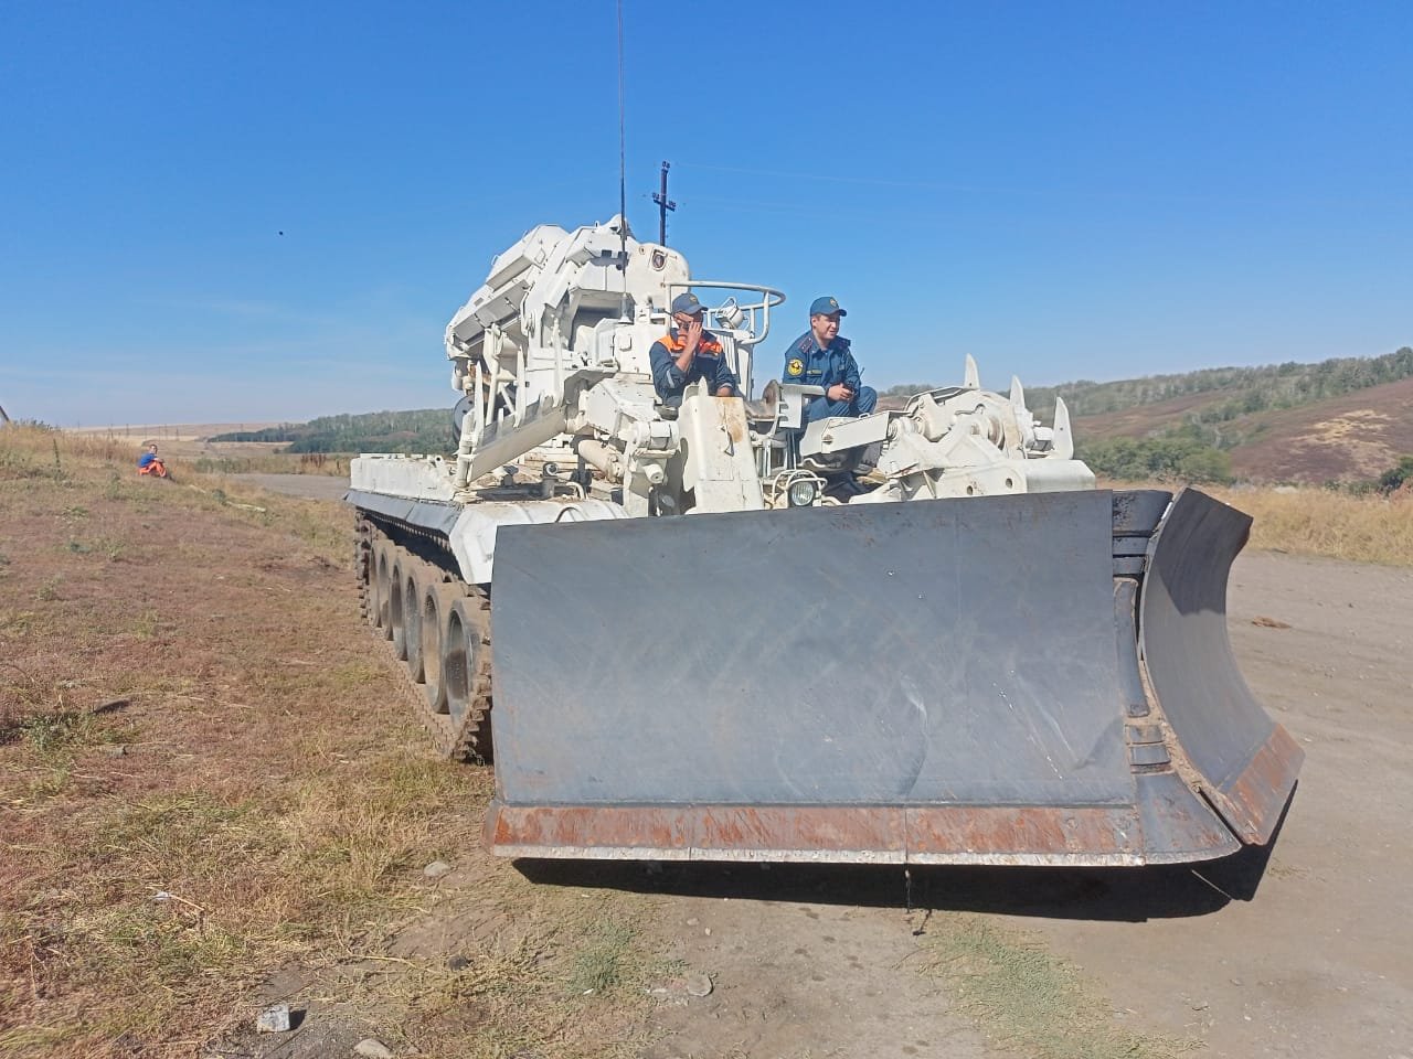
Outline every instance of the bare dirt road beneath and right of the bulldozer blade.
[[(661, 994), (649, 1059), (1193, 1046), (1409, 1059), (1413, 570), (1242, 556), (1229, 634), (1256, 696), (1307, 753), (1265, 866), (910, 878), (853, 867), (520, 867), (544, 887), (653, 895), (660, 949), (684, 974), (711, 977), (709, 995)], [(1109, 1051), (1050, 1048), (1034, 1025), (968, 998), (968, 953), (991, 928), (998, 952), (1017, 955), (1017, 981), (1039, 953), (1082, 984), (1108, 1027), (1094, 1039)], [(1050, 1018), (1063, 1021), (1063, 1005)]]

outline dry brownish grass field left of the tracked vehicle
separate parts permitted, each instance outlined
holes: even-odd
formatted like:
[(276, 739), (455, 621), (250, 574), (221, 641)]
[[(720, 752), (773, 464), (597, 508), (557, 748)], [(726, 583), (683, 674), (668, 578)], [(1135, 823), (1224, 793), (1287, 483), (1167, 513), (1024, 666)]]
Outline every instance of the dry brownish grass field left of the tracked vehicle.
[[(489, 772), (370, 655), (348, 513), (136, 453), (0, 429), (0, 1056), (199, 1053), (290, 966), (424, 1055), (626, 1053), (642, 901), (480, 851)], [(455, 969), (398, 949), (437, 858), (490, 923)]]

